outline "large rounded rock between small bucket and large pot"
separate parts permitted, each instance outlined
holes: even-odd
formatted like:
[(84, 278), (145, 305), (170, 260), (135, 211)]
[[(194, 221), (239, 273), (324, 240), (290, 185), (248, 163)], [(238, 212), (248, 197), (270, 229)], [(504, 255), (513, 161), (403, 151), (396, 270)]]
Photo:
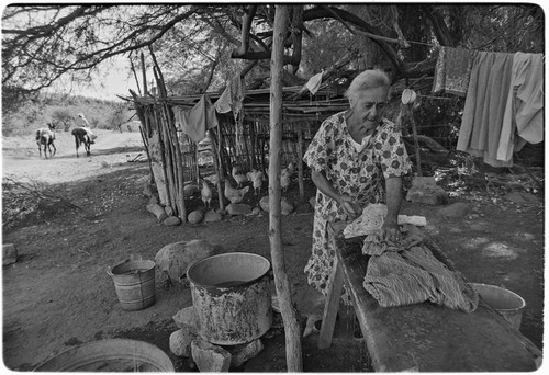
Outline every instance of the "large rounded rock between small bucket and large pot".
[(205, 240), (173, 242), (156, 253), (155, 262), (158, 270), (165, 272), (171, 282), (179, 282), (191, 263), (215, 254), (220, 248)]

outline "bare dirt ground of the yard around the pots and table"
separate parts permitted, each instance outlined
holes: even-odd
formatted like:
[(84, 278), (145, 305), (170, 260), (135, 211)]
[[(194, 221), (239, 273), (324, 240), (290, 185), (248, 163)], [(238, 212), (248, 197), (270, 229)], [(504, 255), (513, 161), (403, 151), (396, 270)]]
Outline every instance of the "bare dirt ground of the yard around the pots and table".
[[(30, 371), (79, 343), (131, 338), (166, 351), (176, 370), (197, 371), (171, 354), (168, 345), (177, 329), (172, 316), (191, 305), (189, 289), (164, 287), (164, 275), (157, 272), (155, 305), (125, 311), (107, 270), (128, 257), (154, 259), (165, 245), (191, 239), (220, 243), (226, 252), (254, 252), (270, 259), (268, 215), (166, 227), (145, 208), (147, 162), (128, 162), (144, 154), (138, 133), (99, 132), (92, 156), (78, 159), (68, 134), (59, 134), (57, 145), (57, 155), (45, 160), (38, 158), (32, 137), (3, 138), (3, 178), (48, 183), (76, 206), (46, 206), (43, 214), (35, 213), (3, 230), (3, 243), (14, 243), (19, 250), (19, 261), (2, 269), (3, 364)], [(507, 192), (522, 189), (520, 184), (512, 186)], [(296, 201), (296, 190), (294, 181), (288, 193), (291, 201)], [(266, 186), (261, 193), (267, 194)], [(309, 183), (306, 197), (313, 193)], [(451, 197), (450, 203), (467, 202), (471, 207), (460, 218), (445, 218), (441, 207), (410, 202), (404, 202), (402, 213), (427, 218), (425, 231), (468, 281), (503, 285), (523, 296), (527, 305), (520, 331), (542, 349), (544, 198), (537, 193), (533, 195), (537, 202), (518, 204), (504, 193), (483, 190)], [(251, 196), (247, 200), (257, 202)], [(194, 196), (187, 204), (193, 209), (202, 202)], [(322, 314), (318, 295), (303, 274), (312, 224), (311, 212), (293, 213), (282, 220), (287, 271), (293, 300), (303, 316)], [(316, 349), (317, 334), (307, 336), (303, 340), (304, 371), (370, 371), (365, 343), (354, 338), (352, 326), (351, 312), (345, 309), (334, 344), (322, 351)], [(262, 341), (265, 350), (242, 371), (285, 371), (283, 333)]]

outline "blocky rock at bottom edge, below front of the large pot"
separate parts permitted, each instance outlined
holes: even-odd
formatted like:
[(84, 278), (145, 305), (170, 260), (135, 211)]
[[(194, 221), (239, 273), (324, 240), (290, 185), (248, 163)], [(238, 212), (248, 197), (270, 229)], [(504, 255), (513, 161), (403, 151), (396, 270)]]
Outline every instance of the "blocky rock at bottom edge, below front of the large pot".
[(191, 353), (201, 373), (226, 373), (231, 367), (231, 353), (200, 337), (192, 341)]

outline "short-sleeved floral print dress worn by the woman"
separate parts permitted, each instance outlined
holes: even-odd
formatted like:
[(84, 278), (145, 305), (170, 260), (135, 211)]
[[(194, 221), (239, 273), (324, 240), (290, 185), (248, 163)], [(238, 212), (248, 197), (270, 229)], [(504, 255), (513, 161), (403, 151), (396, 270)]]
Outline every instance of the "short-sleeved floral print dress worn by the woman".
[[(384, 203), (384, 179), (402, 177), (411, 169), (400, 127), (383, 118), (367, 146), (357, 152), (351, 144), (345, 112), (322, 123), (303, 161), (311, 169), (324, 172), (336, 191), (348, 194), (362, 207), (368, 203)], [(343, 207), (317, 189), (313, 249), (304, 271), (309, 284), (324, 295), (336, 248), (334, 238), (328, 236), (327, 224), (346, 219)]]

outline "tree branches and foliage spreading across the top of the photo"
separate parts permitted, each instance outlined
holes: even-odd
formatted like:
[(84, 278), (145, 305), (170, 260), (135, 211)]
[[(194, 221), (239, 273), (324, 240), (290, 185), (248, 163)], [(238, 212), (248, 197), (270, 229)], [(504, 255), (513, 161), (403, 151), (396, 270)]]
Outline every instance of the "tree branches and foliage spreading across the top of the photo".
[[(274, 12), (261, 3), (9, 5), (2, 15), (5, 107), (61, 76), (86, 81), (113, 56), (136, 63), (148, 48), (169, 94), (221, 90), (235, 73), (257, 87), (269, 72)], [(382, 67), (396, 81), (432, 76), (435, 45), (545, 47), (536, 4), (299, 4), (290, 7), (290, 20), (283, 63), (288, 76), (303, 79), (349, 48), (361, 55), (349, 68)]]

